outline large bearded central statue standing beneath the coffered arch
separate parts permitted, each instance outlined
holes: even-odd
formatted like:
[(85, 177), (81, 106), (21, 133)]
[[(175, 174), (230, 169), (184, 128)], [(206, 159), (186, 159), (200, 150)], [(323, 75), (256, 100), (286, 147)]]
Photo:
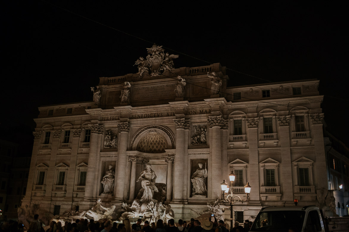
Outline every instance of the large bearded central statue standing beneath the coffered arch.
[(151, 165), (147, 164), (147, 168), (144, 169), (139, 175), (136, 182), (142, 180), (142, 188), (144, 189), (142, 198), (139, 200), (140, 202), (149, 202), (153, 200), (154, 192), (158, 192), (157, 187), (155, 186), (156, 175), (153, 170), (151, 170)]

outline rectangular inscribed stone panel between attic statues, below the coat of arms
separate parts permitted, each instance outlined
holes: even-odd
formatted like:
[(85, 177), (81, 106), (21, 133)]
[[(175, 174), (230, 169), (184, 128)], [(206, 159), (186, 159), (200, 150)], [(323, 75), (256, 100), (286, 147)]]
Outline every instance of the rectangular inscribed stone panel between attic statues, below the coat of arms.
[(176, 97), (174, 88), (176, 83), (173, 84), (164, 84), (164, 85), (154, 85), (154, 86), (142, 86), (134, 87), (132, 93), (132, 100), (147, 100), (154, 98), (171, 98)]

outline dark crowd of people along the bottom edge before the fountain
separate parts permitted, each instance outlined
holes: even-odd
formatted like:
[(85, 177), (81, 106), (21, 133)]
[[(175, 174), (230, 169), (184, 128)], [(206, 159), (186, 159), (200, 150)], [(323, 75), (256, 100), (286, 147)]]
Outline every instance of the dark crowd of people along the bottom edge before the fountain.
[(244, 226), (239, 222), (235, 222), (234, 227), (229, 231), (227, 225), (223, 220), (215, 220), (211, 222), (209, 220), (203, 221), (191, 218), (190, 221), (178, 220), (178, 223), (174, 222), (174, 219), (163, 222), (161, 219), (156, 223), (144, 221), (142, 225), (142, 219), (131, 225), (129, 219), (124, 219), (122, 223), (112, 223), (110, 220), (103, 219), (102, 222), (94, 222), (93, 219), (89, 221), (87, 219), (76, 219), (74, 223), (65, 222), (62, 225), (61, 222), (51, 221), (48, 229), (43, 228), (42, 222), (38, 221), (39, 215), (34, 215), (34, 220), (30, 223), (28, 228), (24, 228), (23, 224), (18, 224), (15, 221), (3, 222), (0, 226), (0, 232), (248, 232), (252, 225), (252, 222), (245, 220)]

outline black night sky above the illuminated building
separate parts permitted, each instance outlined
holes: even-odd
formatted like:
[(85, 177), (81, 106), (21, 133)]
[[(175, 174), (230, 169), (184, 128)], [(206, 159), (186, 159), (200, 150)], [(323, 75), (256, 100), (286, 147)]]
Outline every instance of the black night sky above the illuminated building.
[(229, 86), (319, 79), (327, 129), (349, 145), (344, 3), (118, 3), (2, 2), (1, 138), (31, 144), (38, 106), (92, 101), (156, 43), (176, 68), (221, 63)]

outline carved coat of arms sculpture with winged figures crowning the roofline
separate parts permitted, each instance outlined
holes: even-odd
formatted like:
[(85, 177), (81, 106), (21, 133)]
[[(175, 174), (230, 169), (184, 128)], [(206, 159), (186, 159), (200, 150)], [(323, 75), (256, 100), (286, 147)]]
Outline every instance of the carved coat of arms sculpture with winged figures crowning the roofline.
[(147, 57), (145, 59), (139, 57), (134, 64), (138, 65), (137, 74), (139, 74), (139, 78), (142, 78), (144, 75), (162, 75), (166, 70), (171, 73), (174, 70), (172, 59), (178, 58), (178, 55), (165, 53), (162, 46), (157, 46), (156, 44), (151, 48), (147, 48), (147, 50)]

